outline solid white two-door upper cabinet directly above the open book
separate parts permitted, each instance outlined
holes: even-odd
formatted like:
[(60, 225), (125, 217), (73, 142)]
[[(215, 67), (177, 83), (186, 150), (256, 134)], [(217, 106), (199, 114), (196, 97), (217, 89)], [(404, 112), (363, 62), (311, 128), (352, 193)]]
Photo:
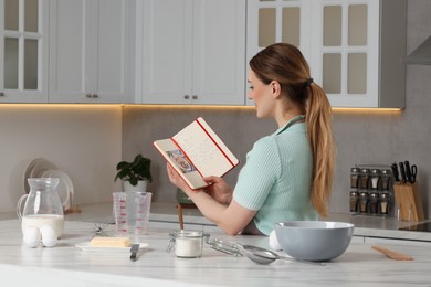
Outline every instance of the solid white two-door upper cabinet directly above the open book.
[(143, 0), (140, 6), (136, 94), (141, 103), (244, 105), (245, 0)]

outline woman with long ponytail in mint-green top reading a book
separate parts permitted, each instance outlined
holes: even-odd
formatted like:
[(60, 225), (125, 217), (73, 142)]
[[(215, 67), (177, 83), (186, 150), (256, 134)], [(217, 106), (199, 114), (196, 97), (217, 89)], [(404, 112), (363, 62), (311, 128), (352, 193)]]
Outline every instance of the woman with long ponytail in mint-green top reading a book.
[(274, 118), (278, 129), (254, 144), (234, 190), (208, 177), (209, 189), (192, 191), (168, 163), (169, 180), (231, 235), (269, 235), (277, 222), (326, 216), (334, 169), (326, 94), (311, 78), (299, 50), (285, 43), (250, 61), (248, 82), (257, 118)]

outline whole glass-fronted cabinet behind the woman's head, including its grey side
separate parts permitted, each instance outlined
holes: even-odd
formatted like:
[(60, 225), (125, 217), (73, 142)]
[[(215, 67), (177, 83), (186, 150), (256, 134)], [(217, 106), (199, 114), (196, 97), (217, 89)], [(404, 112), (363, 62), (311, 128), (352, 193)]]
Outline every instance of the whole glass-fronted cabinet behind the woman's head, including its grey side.
[(406, 9), (406, 0), (249, 0), (248, 59), (287, 42), (333, 107), (403, 108)]

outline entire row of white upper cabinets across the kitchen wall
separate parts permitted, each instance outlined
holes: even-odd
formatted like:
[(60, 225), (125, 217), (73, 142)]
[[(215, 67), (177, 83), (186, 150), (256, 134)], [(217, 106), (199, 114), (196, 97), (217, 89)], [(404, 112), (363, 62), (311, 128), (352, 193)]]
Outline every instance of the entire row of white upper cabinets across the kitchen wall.
[(0, 0), (0, 103), (250, 105), (287, 42), (334, 107), (403, 108), (406, 0)]

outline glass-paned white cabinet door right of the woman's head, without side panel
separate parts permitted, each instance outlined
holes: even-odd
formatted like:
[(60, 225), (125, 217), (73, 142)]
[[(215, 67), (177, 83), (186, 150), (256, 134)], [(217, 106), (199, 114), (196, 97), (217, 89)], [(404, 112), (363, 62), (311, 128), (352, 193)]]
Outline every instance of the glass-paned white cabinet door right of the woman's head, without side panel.
[(333, 106), (378, 105), (379, 1), (319, 1), (314, 15), (317, 83)]

